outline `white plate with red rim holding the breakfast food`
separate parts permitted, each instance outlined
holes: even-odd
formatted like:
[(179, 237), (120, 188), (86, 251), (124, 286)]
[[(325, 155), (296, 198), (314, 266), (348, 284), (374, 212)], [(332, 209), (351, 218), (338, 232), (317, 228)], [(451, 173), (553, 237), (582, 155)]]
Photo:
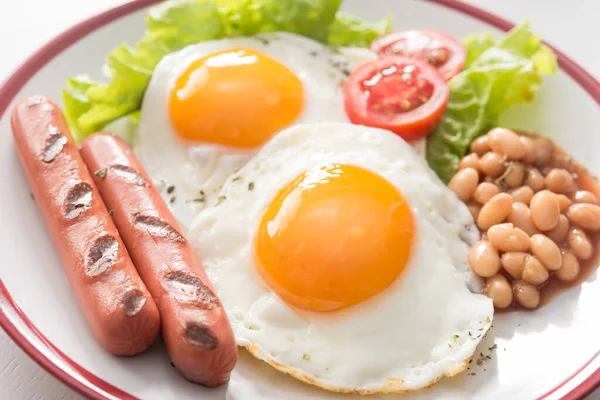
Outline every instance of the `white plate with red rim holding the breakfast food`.
[[(43, 94), (60, 99), (67, 76), (99, 71), (118, 43), (134, 43), (144, 30), (138, 0), (98, 15), (49, 42), (0, 88), (0, 325), (33, 359), (67, 385), (95, 399), (303, 399), (332, 395), (295, 381), (245, 351), (228, 385), (206, 389), (182, 379), (161, 343), (135, 358), (116, 358), (95, 342), (71, 294), (30, 191), (10, 134), (7, 110), (19, 98)], [(344, 9), (375, 21), (395, 14), (398, 28), (435, 28), (458, 37), (511, 24), (455, 0), (347, 0)], [(533, 105), (512, 110), (506, 123), (552, 137), (600, 174), (600, 84), (559, 54), (557, 76), (546, 80)], [(417, 394), (397, 398), (574, 399), (600, 383), (600, 282), (593, 275), (535, 313), (498, 315), (480, 351), (491, 354)], [(493, 344), (497, 349), (490, 351)], [(396, 343), (395, 346), (410, 345)]]

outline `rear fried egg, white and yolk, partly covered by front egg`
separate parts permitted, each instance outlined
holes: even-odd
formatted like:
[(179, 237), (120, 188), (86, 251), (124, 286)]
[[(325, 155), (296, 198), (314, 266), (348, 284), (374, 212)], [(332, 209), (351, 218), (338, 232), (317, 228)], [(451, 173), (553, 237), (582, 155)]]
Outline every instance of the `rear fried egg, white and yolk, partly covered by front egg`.
[(154, 70), (134, 152), (185, 227), (277, 132), (297, 122), (347, 121), (344, 80), (374, 57), (291, 33), (186, 47)]

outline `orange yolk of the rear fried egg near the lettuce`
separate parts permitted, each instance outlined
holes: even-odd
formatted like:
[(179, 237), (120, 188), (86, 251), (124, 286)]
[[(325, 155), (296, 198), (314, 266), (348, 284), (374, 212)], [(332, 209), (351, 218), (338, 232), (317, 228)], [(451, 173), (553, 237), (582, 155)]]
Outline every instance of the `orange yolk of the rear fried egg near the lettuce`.
[(238, 48), (192, 62), (171, 91), (169, 113), (184, 139), (252, 148), (291, 124), (303, 103), (302, 82), (292, 71)]

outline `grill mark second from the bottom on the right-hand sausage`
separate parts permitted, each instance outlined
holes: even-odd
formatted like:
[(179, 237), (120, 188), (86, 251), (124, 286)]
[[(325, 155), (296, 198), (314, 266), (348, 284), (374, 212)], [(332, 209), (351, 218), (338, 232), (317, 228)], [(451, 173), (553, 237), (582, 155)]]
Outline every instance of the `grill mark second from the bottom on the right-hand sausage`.
[(218, 305), (217, 296), (195, 275), (187, 271), (170, 272), (162, 279), (169, 295), (182, 303), (194, 303), (203, 309)]

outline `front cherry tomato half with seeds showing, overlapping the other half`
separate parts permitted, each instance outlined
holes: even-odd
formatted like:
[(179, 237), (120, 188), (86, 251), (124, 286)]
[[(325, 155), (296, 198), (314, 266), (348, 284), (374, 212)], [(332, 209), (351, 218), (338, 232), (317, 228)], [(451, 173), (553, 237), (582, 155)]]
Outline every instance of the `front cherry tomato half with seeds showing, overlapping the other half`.
[(355, 124), (416, 140), (440, 122), (449, 93), (448, 84), (431, 65), (384, 56), (361, 65), (346, 79), (344, 107)]

